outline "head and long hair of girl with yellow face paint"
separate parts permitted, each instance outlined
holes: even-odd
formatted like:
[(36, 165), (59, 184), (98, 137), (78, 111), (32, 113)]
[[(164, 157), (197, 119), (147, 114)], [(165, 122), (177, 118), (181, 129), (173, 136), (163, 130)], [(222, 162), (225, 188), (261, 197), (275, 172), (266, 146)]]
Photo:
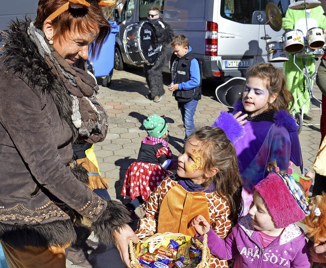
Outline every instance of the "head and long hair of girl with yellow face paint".
[(178, 157), (177, 176), (185, 189), (215, 192), (231, 207), (231, 221), (241, 210), (241, 179), (235, 149), (221, 128), (203, 127), (189, 136)]

